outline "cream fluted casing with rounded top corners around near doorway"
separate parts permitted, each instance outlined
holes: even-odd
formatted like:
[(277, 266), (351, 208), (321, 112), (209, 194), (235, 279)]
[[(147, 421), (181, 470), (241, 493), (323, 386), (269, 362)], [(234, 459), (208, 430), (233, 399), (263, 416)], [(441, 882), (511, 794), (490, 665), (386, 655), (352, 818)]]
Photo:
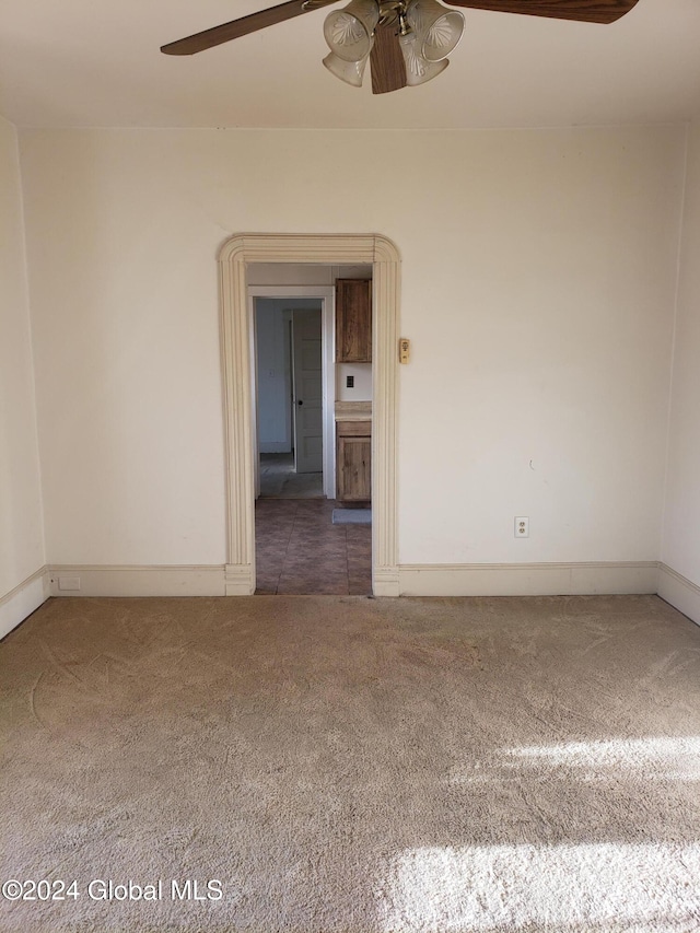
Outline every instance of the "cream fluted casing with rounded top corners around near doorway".
[(397, 421), (400, 258), (378, 234), (246, 233), (219, 252), (225, 431), (226, 595), (255, 592), (255, 439), (246, 267), (252, 263), (372, 265), (372, 587), (398, 596)]

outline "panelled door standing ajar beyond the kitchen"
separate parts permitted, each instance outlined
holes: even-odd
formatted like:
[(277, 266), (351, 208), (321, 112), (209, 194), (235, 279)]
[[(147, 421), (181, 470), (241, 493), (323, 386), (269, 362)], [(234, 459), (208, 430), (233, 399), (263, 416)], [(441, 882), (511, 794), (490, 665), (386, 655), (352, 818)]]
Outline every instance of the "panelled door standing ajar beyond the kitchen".
[(320, 308), (292, 313), (292, 371), (294, 385), (294, 468), (322, 473), (323, 380)]

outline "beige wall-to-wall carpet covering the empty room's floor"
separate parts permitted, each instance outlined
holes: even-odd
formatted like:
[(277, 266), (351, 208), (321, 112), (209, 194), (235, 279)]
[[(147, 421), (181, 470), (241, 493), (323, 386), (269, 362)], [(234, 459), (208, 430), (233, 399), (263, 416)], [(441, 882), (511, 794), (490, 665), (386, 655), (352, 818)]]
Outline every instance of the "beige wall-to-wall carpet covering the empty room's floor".
[(657, 597), (55, 599), (0, 663), (3, 933), (700, 930)]

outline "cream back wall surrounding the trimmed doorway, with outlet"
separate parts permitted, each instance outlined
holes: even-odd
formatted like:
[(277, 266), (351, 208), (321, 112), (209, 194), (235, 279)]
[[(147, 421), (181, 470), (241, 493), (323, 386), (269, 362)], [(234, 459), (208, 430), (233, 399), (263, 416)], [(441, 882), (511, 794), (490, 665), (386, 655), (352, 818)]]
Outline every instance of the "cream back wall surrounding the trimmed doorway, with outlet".
[(681, 127), (23, 131), (50, 560), (225, 561), (243, 231), (401, 253), (401, 562), (656, 560), (684, 156)]

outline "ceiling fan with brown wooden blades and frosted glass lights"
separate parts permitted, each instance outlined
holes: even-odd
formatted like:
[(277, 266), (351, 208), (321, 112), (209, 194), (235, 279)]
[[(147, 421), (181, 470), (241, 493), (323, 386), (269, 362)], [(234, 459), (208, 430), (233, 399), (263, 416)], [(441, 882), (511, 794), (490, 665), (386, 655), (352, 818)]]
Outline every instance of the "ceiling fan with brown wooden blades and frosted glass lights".
[[(205, 30), (161, 47), (165, 55), (194, 55), (221, 43), (319, 10), (338, 0), (288, 0), (240, 20)], [(452, 7), (525, 13), (584, 23), (612, 23), (638, 0), (350, 0), (326, 18), (330, 54), (324, 65), (348, 84), (360, 86), (368, 61), (374, 94), (422, 84), (447, 66), (464, 30), (464, 15)]]

